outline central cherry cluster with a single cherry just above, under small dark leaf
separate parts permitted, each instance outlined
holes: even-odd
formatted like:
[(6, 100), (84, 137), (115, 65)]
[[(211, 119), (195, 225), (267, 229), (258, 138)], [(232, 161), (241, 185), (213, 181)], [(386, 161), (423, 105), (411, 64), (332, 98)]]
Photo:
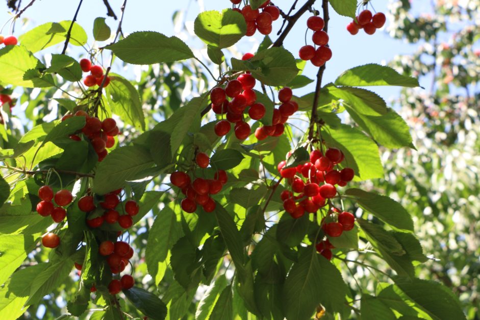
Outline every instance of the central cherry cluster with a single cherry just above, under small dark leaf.
[[(210, 158), (203, 152), (195, 156), (195, 162), (200, 168), (208, 167)], [(185, 198), (180, 203), (182, 210), (193, 213), (197, 210), (197, 205), (202, 206), (205, 212), (215, 210), (215, 201), (210, 197), (211, 194), (217, 194), (227, 182), (228, 177), (224, 170), (218, 170), (214, 179), (195, 178), (190, 179), (184, 171), (175, 171), (170, 175), (170, 182), (182, 190)]]

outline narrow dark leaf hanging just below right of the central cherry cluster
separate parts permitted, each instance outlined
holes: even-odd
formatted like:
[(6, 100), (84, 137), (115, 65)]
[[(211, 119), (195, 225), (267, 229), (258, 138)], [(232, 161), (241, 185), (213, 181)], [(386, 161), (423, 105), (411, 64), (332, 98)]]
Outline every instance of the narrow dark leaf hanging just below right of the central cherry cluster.
[(216, 203), (214, 214), (220, 227), (220, 233), (222, 234), (223, 240), (225, 240), (226, 248), (229, 249), (235, 268), (240, 278), (242, 278), (245, 274), (243, 267), (245, 260), (241, 234), (237, 229), (234, 219), (226, 212), (221, 204)]

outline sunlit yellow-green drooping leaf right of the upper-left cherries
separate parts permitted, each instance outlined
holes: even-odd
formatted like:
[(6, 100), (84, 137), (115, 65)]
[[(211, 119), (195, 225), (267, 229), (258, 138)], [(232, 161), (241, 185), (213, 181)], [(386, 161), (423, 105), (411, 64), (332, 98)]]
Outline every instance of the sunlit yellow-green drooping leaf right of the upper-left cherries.
[(137, 89), (130, 81), (111, 73), (110, 85), (105, 88), (112, 112), (127, 124), (145, 130), (145, 116)]

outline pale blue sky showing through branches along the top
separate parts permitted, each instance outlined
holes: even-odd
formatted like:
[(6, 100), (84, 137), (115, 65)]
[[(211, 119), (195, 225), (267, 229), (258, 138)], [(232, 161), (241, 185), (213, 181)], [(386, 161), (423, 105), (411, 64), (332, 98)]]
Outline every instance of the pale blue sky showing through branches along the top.
[[(120, 14), (120, 6), (123, 0), (110, 0), (110, 4), (117, 15)], [(24, 6), (26, 1), (22, 2)], [(277, 0), (275, 4), (284, 10), (289, 9), (290, 1)], [(299, 1), (300, 6), (302, 1)], [(320, 3), (320, 2), (319, 2)], [(387, 11), (387, 1), (377, 0), (372, 2), (375, 10), (380, 12)], [(37, 0), (32, 7), (27, 9), (23, 14), (23, 18), (29, 18), (30, 21), (25, 28), (21, 28), (21, 23), (17, 23), (15, 35), (32, 29), (39, 24), (45, 22), (61, 21), (71, 19), (77, 9), (77, 1), (65, 0)], [(300, 7), (298, 6), (298, 7)], [(176, 0), (176, 1), (134, 1), (127, 3), (122, 30), (125, 34), (134, 31), (158, 31), (165, 35), (175, 34), (173, 30), (172, 16), (176, 10), (185, 10), (186, 21), (193, 21), (200, 8), (205, 10), (221, 10), (231, 7), (229, 0)], [(321, 9), (320, 6), (315, 7)], [(0, 22), (6, 21), (10, 15), (3, 6), (0, 11)], [(106, 8), (102, 0), (84, 0), (78, 16), (78, 23), (91, 35), (93, 20), (98, 17), (106, 17)], [(285, 41), (285, 47), (295, 56), (298, 55), (298, 48), (305, 44), (304, 35), (306, 30), (306, 19), (308, 14), (299, 20), (290, 35)], [(397, 54), (406, 54), (414, 51), (415, 46), (403, 43), (399, 40), (390, 38), (386, 31), (379, 30), (374, 35), (367, 35), (362, 30), (352, 36), (346, 31), (346, 25), (351, 21), (350, 18), (337, 15), (331, 10), (331, 22), (329, 27), (330, 47), (333, 51), (332, 60), (327, 63), (324, 74), (323, 83), (332, 82), (340, 73), (348, 68), (355, 67), (366, 63), (382, 63), (391, 60)], [(107, 23), (116, 29), (117, 21), (108, 17)], [(388, 23), (388, 22), (387, 22)], [(273, 24), (272, 39), (276, 38), (276, 32), (281, 26), (281, 20), (277, 20)], [(8, 32), (8, 26), (4, 29), (3, 34)], [(311, 34), (309, 34), (310, 38)], [(262, 37), (257, 33), (256, 37), (261, 41)], [(187, 41), (188, 42), (188, 41)], [(198, 41), (190, 43), (193, 46), (201, 45)], [(240, 44), (242, 50), (249, 51), (255, 44), (251, 39), (244, 39)], [(56, 48), (61, 50), (61, 47)], [(310, 63), (307, 65), (304, 74), (310, 78), (314, 78), (316, 68)], [(314, 84), (311, 84), (306, 90), (313, 90)], [(372, 88), (380, 93), (385, 99), (398, 93), (399, 88)], [(304, 90), (302, 90), (304, 91)], [(300, 92), (298, 92), (300, 93)]]

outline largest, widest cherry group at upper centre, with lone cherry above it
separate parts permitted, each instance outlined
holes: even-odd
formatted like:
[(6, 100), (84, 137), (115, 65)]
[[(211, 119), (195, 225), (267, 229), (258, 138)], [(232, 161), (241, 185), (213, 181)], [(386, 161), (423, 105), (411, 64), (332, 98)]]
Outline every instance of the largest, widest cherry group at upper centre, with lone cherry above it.
[[(251, 55), (244, 55), (243, 59), (250, 59)], [(250, 125), (245, 121), (244, 113), (252, 120), (260, 120), (265, 116), (265, 106), (257, 103), (257, 94), (254, 91), (255, 78), (250, 73), (243, 73), (237, 79), (230, 80), (225, 88), (215, 87), (210, 92), (212, 110), (216, 114), (225, 114), (226, 120), (222, 119), (215, 124), (215, 133), (224, 136), (230, 132), (231, 123), (235, 124), (235, 136), (246, 139), (250, 133)], [(232, 98), (231, 101), (228, 97)], [(283, 134), (288, 117), (298, 110), (296, 102), (292, 99), (292, 89), (285, 87), (279, 91), (279, 99), (282, 105), (273, 110), (272, 125), (263, 126), (257, 129), (255, 135), (265, 139), (267, 136), (280, 136)]]

